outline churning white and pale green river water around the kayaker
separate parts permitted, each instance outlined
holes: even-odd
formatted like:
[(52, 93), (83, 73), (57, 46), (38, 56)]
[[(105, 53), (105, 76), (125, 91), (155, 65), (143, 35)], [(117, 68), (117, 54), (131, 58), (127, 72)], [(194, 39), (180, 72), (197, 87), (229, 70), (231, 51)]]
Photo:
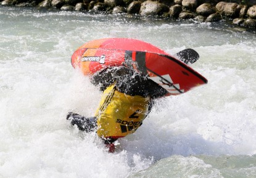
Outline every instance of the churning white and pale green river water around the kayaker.
[[(0, 177), (254, 177), (256, 36), (195, 23), (0, 6)], [(80, 45), (104, 37), (194, 48), (209, 83), (159, 99), (108, 153), (65, 120), (94, 114), (101, 93), (72, 68)]]

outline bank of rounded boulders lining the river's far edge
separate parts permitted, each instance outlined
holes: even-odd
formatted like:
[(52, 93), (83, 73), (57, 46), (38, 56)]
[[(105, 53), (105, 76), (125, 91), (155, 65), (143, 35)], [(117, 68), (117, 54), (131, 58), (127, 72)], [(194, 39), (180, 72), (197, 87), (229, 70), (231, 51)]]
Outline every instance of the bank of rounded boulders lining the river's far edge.
[[(1, 1), (1, 0), (0, 0)], [(256, 0), (4, 0), (2, 6), (39, 6), (60, 10), (103, 11), (112, 14), (127, 13), (159, 15), (170, 18), (194, 19), (200, 22), (230, 18), (233, 23), (256, 29)]]

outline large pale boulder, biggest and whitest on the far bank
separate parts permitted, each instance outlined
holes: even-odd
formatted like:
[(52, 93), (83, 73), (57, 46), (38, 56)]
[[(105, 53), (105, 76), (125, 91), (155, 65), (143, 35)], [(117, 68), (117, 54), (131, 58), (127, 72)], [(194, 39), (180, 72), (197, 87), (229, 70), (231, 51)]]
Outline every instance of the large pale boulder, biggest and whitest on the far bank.
[(141, 15), (162, 15), (168, 12), (169, 7), (157, 1), (145, 1), (141, 3), (139, 14)]

